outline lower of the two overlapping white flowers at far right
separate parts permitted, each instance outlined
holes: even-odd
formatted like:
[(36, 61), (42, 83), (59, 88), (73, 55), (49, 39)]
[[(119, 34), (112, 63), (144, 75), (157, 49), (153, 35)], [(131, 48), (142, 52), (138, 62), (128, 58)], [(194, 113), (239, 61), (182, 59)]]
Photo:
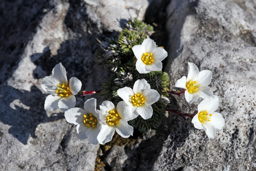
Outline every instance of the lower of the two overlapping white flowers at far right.
[(193, 117), (192, 123), (196, 129), (204, 129), (208, 138), (213, 139), (216, 129), (222, 129), (225, 120), (222, 115), (215, 112), (219, 107), (219, 98), (206, 98), (197, 106), (197, 114)]

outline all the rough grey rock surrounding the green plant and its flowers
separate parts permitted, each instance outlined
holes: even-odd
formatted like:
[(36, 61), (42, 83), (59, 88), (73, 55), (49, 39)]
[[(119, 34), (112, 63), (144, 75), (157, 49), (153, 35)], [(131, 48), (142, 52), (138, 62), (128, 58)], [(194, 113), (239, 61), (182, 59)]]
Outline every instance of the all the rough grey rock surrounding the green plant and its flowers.
[[(226, 124), (215, 139), (208, 139), (191, 119), (186, 123), (169, 113), (159, 129), (148, 131), (129, 147), (114, 146), (104, 154), (106, 170), (256, 170), (255, 1), (172, 0), (167, 7), (166, 2), (0, 4), (0, 170), (94, 169), (99, 145), (79, 140), (75, 126), (60, 110), (44, 111), (46, 94), (40, 84), (62, 62), (68, 78), (75, 76), (82, 89), (96, 90), (110, 73), (93, 59), (96, 38), (116, 35), (126, 20), (143, 19), (145, 13), (146, 21), (166, 21), (168, 40), (156, 36), (156, 42), (164, 46), (168, 41), (165, 70), (171, 89), (187, 75), (187, 62), (211, 70), (210, 87), (220, 97), (218, 112)], [(104, 100), (77, 96), (77, 107), (91, 97), (98, 104)], [(193, 113), (199, 102), (188, 104), (184, 97), (171, 96), (170, 108)]]

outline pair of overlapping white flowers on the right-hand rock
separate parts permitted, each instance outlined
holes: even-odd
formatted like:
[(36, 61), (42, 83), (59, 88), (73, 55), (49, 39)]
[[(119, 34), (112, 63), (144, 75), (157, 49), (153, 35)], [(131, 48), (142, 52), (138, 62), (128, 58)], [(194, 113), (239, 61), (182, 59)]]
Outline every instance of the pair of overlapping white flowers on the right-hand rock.
[(188, 103), (193, 103), (199, 97), (204, 99), (199, 103), (192, 123), (195, 128), (204, 129), (208, 138), (213, 139), (216, 129), (222, 129), (225, 121), (220, 113), (215, 112), (219, 107), (219, 98), (213, 95), (212, 89), (208, 87), (212, 80), (212, 72), (209, 70), (199, 72), (197, 66), (191, 62), (188, 66), (187, 77), (183, 76), (177, 80), (175, 87), (185, 90), (185, 99)]

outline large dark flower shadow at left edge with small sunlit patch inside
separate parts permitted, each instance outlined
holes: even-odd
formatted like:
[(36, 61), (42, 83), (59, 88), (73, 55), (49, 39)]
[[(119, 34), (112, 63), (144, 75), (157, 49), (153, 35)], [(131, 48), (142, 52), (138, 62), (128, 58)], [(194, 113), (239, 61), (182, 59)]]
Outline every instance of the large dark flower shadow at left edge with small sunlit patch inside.
[(63, 113), (54, 114), (51, 117), (46, 115), (45, 95), (36, 86), (32, 86), (30, 91), (18, 90), (7, 85), (2, 86), (0, 97), (2, 97), (1, 105), (3, 105), (0, 109), (0, 121), (10, 125), (9, 133), (23, 144), (27, 144), (29, 135), (36, 138), (35, 130), (40, 123), (64, 118)]

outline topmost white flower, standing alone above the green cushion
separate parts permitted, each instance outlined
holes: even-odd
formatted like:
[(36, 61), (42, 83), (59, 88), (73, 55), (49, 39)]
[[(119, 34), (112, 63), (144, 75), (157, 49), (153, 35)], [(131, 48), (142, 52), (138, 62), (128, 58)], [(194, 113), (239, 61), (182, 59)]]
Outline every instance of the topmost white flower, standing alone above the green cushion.
[(141, 45), (133, 46), (132, 50), (137, 58), (136, 69), (140, 74), (162, 70), (161, 61), (166, 58), (167, 52), (164, 48), (156, 48), (154, 40), (147, 38)]

